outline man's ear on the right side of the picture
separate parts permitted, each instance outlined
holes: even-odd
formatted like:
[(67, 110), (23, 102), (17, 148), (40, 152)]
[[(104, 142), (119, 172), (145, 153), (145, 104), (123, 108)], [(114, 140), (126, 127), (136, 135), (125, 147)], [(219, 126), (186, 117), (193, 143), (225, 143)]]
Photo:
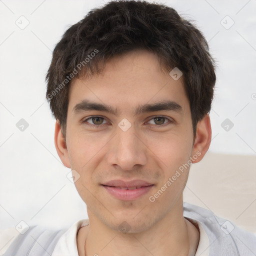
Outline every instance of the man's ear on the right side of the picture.
[(210, 117), (208, 114), (197, 123), (196, 125), (196, 136), (194, 139), (192, 156), (196, 155), (197, 157), (192, 157), (192, 163), (199, 162), (205, 153), (207, 152), (211, 141), (211, 126), (210, 126)]

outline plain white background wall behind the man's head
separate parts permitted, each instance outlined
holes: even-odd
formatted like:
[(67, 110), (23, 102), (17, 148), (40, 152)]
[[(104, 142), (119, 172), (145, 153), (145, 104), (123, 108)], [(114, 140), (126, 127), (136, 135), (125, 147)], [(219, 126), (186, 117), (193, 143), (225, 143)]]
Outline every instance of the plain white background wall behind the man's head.
[[(217, 60), (209, 150), (255, 157), (256, 1), (161, 2), (195, 20)], [(0, 0), (0, 228), (20, 220), (67, 227), (87, 218), (85, 204), (66, 178), (69, 169), (54, 147), (44, 79), (63, 32), (103, 3)], [(21, 15), (29, 21), (24, 29), (15, 23)], [(223, 27), (231, 22), (229, 29)], [(21, 118), (29, 124), (24, 131), (16, 127)], [(234, 124), (229, 131), (221, 127), (226, 118)]]

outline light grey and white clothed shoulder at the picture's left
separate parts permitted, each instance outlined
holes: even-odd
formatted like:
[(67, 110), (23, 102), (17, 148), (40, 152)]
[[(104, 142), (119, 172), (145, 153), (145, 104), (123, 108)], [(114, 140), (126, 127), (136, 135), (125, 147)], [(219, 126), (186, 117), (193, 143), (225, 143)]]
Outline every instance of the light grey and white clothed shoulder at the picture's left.
[(38, 256), (45, 255), (45, 251), (47, 251), (46, 255), (76, 255), (77, 232), (88, 224), (88, 219), (82, 219), (63, 229), (26, 225), (25, 228), (21, 226), (17, 230), (15, 228), (0, 230), (0, 255), (20, 256), (29, 253), (30, 256)]

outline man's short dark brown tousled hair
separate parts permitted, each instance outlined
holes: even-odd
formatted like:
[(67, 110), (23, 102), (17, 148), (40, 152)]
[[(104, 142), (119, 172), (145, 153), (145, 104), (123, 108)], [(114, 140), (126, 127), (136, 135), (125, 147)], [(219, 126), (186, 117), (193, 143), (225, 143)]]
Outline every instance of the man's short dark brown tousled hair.
[(99, 63), (104, 66), (108, 59), (135, 49), (156, 54), (164, 71), (182, 71), (195, 135), (197, 122), (210, 111), (215, 84), (207, 41), (169, 6), (117, 0), (89, 11), (65, 31), (53, 50), (46, 98), (64, 136), (71, 79), (100, 73)]

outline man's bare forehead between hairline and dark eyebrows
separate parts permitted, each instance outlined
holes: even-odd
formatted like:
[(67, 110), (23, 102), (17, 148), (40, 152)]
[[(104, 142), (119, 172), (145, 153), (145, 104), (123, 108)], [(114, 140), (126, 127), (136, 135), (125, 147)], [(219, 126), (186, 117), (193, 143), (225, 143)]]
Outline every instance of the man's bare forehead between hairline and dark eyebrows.
[(164, 73), (155, 54), (136, 50), (106, 62), (102, 73), (88, 79), (75, 79), (69, 90), (68, 109), (83, 101), (103, 103), (114, 108), (135, 109), (139, 104), (174, 101), (182, 109), (188, 99), (182, 76), (174, 80)]

